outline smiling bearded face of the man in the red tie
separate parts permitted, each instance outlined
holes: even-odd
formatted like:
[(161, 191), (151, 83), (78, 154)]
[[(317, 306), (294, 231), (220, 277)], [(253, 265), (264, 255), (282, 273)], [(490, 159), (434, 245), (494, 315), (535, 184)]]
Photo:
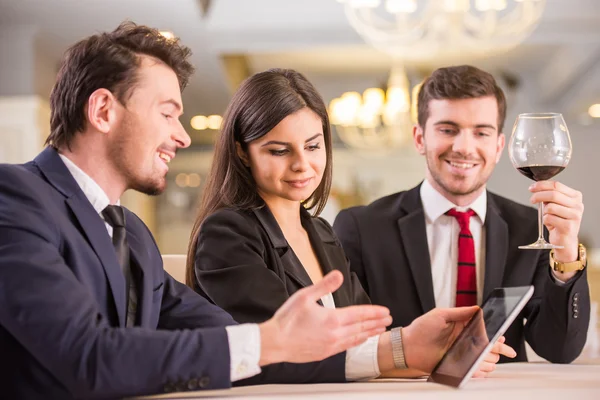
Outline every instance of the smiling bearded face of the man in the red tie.
[(425, 127), (416, 126), (415, 146), (427, 162), (428, 181), (455, 204), (469, 204), (484, 189), (504, 148), (493, 96), (430, 100)]

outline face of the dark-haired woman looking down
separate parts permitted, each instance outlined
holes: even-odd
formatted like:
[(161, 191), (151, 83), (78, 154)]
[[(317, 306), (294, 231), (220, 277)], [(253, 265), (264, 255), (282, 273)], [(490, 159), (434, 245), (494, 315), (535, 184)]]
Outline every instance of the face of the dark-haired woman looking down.
[(316, 190), (327, 164), (323, 122), (310, 108), (285, 117), (238, 155), (250, 167), (259, 195), (267, 203), (301, 202)]

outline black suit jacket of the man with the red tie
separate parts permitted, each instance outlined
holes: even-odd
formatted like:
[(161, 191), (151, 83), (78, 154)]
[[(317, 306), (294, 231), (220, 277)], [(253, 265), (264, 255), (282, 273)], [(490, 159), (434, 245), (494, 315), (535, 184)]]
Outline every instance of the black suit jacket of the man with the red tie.
[[(333, 226), (352, 271), (374, 304), (389, 307), (393, 326), (406, 326), (435, 307), (420, 185), (343, 210)], [(506, 343), (517, 351), (512, 361), (527, 360), (525, 339), (551, 362), (573, 361), (585, 344), (589, 324), (586, 270), (565, 285), (555, 283), (548, 251), (518, 249), (537, 237), (536, 210), (490, 192), (485, 229), (483, 298), (500, 286), (535, 286), (532, 299), (505, 334)]]

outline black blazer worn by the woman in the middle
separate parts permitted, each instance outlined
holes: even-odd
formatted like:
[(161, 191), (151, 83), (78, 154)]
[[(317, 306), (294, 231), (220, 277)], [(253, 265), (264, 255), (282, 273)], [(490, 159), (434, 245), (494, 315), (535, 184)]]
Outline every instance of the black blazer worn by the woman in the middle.
[[(301, 208), (323, 273), (340, 270), (344, 283), (333, 298), (337, 307), (370, 303), (331, 226)], [(288, 245), (275, 217), (264, 205), (252, 211), (222, 209), (202, 224), (196, 250), (195, 290), (229, 312), (236, 321), (263, 322), (296, 291), (312, 284)], [(281, 383), (344, 382), (345, 353), (308, 364), (285, 364), (289, 371), (272, 377)], [(270, 368), (263, 368), (270, 376)], [(254, 383), (252, 378), (242, 384)]]

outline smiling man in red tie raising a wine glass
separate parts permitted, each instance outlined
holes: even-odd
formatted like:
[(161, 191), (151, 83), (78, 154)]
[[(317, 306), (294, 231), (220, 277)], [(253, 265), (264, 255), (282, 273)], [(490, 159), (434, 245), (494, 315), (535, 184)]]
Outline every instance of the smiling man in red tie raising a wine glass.
[[(375, 304), (394, 326), (434, 307), (481, 304), (499, 286), (535, 285), (535, 294), (506, 333), (527, 360), (525, 340), (545, 359), (568, 363), (585, 344), (590, 298), (585, 248), (578, 232), (582, 195), (559, 182), (530, 187), (545, 203), (553, 250), (519, 250), (537, 236), (537, 213), (488, 192), (500, 160), (506, 103), (494, 78), (477, 68), (441, 68), (418, 98), (414, 143), (425, 156), (425, 180), (368, 206), (343, 210), (334, 230)], [(524, 325), (524, 321), (527, 322)], [(503, 361), (507, 361), (504, 359)]]

